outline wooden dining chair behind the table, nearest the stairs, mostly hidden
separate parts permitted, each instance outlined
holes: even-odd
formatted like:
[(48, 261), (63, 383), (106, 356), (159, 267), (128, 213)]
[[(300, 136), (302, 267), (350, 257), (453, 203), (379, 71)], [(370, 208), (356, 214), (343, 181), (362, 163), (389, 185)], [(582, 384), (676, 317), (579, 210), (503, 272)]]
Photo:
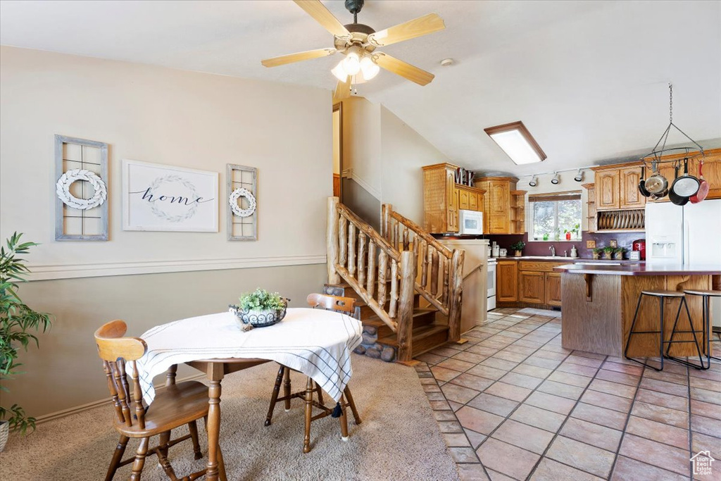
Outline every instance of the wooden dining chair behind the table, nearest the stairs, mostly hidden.
[[(343, 312), (350, 316), (355, 314), (355, 299), (350, 297), (328, 296), (326, 294), (309, 294), (306, 301), (308, 302), (308, 305), (314, 309), (320, 307), (329, 311)], [(280, 394), (280, 384), (283, 384), (283, 397), (278, 397), (278, 394)], [(318, 400), (313, 399), (314, 394), (317, 395)], [(355, 424), (361, 424), (361, 416), (358, 415), (358, 410), (355, 408), (355, 402), (353, 402), (353, 396), (350, 394), (348, 386), (343, 389), (340, 402), (337, 402), (334, 408), (330, 408), (323, 402), (323, 391), (321, 387), (310, 377), (306, 381), (306, 389), (304, 391), (291, 393), (291, 369), (281, 365), (280, 369), (278, 369), (278, 376), (275, 377), (275, 387), (273, 387), (273, 394), (270, 396), (270, 407), (268, 407), (265, 425), (269, 426), (273, 420), (273, 410), (278, 402), (285, 402), (286, 412), (288, 412), (291, 410), (291, 399), (294, 397), (299, 397), (305, 402), (305, 436), (303, 438), (304, 453), (308, 453), (311, 450), (310, 439), (312, 421), (325, 418), (327, 416), (340, 418), (340, 438), (343, 441), (348, 441), (348, 418), (345, 415), (346, 407), (350, 407), (350, 410), (353, 412)], [(313, 415), (313, 407), (319, 408), (322, 412), (318, 415)]]

